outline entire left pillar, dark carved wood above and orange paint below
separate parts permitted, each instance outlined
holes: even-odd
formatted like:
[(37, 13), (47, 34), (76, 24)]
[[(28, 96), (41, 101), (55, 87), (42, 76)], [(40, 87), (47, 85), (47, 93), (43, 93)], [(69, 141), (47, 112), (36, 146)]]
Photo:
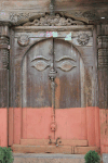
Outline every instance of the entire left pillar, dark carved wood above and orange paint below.
[(8, 147), (9, 55), (8, 24), (0, 25), (0, 146)]

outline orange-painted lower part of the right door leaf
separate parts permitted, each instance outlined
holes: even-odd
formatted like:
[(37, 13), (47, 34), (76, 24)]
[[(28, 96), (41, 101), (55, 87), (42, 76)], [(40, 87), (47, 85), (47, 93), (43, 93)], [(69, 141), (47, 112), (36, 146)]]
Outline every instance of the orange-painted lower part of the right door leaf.
[(86, 110), (85, 108), (55, 110), (57, 130), (55, 138), (86, 140)]

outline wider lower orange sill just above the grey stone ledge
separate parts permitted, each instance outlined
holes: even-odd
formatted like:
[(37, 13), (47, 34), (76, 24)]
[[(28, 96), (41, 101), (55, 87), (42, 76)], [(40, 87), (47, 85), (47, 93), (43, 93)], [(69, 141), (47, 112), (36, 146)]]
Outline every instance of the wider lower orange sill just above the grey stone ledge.
[(90, 150), (95, 150), (99, 153), (97, 147), (72, 147), (72, 146), (24, 146), (13, 145), (15, 153), (65, 153), (65, 154), (85, 154)]

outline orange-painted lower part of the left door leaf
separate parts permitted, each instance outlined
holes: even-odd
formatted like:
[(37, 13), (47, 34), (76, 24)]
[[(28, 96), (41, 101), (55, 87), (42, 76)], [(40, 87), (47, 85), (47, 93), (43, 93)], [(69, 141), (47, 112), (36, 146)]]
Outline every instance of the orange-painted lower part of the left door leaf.
[(23, 138), (24, 139), (49, 139), (49, 135), (54, 138), (50, 129), (52, 121), (52, 108), (23, 109)]

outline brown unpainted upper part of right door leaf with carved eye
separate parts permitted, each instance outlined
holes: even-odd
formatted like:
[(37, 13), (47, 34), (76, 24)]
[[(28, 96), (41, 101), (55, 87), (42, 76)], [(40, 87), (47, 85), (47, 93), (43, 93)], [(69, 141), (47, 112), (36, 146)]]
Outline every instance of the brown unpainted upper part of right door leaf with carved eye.
[(55, 68), (55, 108), (80, 108), (80, 55), (71, 43), (54, 40)]

